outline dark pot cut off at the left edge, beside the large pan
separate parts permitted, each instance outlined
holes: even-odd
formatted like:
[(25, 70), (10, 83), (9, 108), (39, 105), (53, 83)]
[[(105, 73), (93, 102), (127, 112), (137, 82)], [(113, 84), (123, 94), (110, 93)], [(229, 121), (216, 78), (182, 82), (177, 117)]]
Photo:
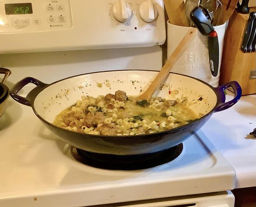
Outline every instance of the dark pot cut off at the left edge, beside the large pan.
[(0, 118), (3, 115), (4, 111), (7, 107), (7, 99), (10, 95), (9, 88), (4, 85), (4, 82), (6, 81), (7, 77), (11, 74), (11, 71), (6, 68), (0, 67), (0, 73), (4, 74), (2, 82), (0, 82)]

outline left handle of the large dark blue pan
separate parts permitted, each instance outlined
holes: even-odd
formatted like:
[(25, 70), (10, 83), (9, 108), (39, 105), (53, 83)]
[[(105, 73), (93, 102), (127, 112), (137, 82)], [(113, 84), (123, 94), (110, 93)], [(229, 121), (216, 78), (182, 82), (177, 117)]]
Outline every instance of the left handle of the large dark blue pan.
[[(46, 83), (43, 83), (43, 82), (37, 80), (36, 78), (26, 77), (26, 78), (23, 78), (22, 80), (20, 80), (19, 82), (17, 82), (13, 86), (12, 90), (10, 91), (10, 96), (17, 102), (31, 107), (31, 100), (29, 100), (29, 95), (31, 95), (30, 93), (32, 91), (30, 91), (26, 97), (22, 97), (17, 94), (24, 86), (26, 86), (29, 83), (33, 83), (36, 85), (36, 88), (34, 88), (32, 91), (34, 91), (34, 90), (39, 91), (39, 89), (48, 85)], [(37, 94), (36, 91), (32, 95), (36, 95)]]

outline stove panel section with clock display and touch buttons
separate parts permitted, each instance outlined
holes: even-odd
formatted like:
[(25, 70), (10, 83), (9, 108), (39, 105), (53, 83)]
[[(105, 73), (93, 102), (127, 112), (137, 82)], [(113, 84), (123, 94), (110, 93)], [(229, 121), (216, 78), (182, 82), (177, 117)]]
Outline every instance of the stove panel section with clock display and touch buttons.
[(0, 1), (0, 33), (71, 28), (69, 0)]

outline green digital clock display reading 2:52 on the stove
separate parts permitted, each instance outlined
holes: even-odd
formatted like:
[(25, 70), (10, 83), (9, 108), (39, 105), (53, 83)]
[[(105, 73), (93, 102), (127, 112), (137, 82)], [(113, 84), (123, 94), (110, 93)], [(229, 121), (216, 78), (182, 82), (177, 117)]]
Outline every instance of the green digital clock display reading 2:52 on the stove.
[(6, 15), (32, 14), (32, 3), (6, 3), (4, 4)]

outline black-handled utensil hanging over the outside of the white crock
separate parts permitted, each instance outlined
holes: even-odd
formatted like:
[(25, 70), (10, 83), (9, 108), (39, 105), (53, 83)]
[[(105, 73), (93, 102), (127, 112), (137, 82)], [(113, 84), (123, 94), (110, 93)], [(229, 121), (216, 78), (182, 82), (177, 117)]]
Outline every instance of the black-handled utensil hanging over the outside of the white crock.
[(219, 41), (217, 32), (211, 24), (211, 16), (207, 9), (196, 6), (190, 13), (190, 18), (200, 33), (208, 36), (208, 54), (211, 74), (216, 77), (219, 68)]

